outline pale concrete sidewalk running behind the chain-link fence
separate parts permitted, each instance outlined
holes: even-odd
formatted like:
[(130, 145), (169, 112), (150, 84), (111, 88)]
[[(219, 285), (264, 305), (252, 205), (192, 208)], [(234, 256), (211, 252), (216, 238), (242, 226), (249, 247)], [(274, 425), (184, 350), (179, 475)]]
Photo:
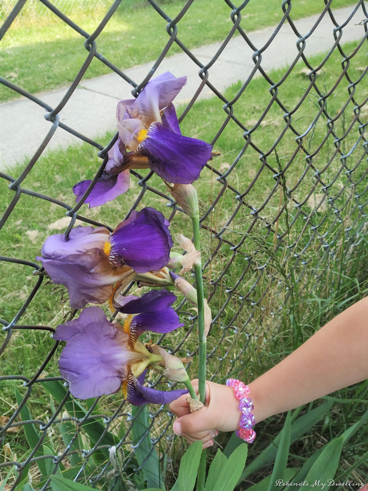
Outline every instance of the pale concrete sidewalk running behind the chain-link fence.
[[(334, 10), (334, 16), (340, 23), (344, 22), (353, 7)], [(341, 43), (358, 41), (364, 36), (364, 27), (357, 25), (364, 15), (358, 10), (346, 27), (343, 27)], [(307, 34), (313, 27), (318, 16), (313, 15), (299, 21), (295, 25), (299, 32)], [(320, 21), (310, 38), (306, 40), (304, 53), (307, 56), (318, 52), (327, 52), (334, 44), (334, 25), (326, 14)], [(268, 41), (275, 27), (249, 33), (253, 44), (261, 49)], [(262, 67), (265, 71), (288, 66), (297, 55), (297, 38), (288, 23), (285, 23), (262, 55)], [(193, 54), (203, 63), (210, 61), (221, 43), (214, 43), (192, 50)], [(245, 81), (252, 69), (252, 50), (246, 42), (237, 36), (230, 40), (220, 57), (209, 69), (209, 81), (219, 90), (239, 80)], [(139, 83), (151, 70), (153, 62), (135, 66), (125, 70), (132, 80)], [(187, 75), (188, 82), (176, 98), (175, 103), (189, 101), (201, 83), (198, 66), (184, 53), (166, 56), (156, 74), (166, 71), (179, 77)], [(85, 136), (98, 139), (106, 131), (116, 127), (115, 109), (120, 99), (131, 98), (131, 86), (115, 73), (90, 80), (82, 80), (68, 103), (60, 113), (60, 121)], [(39, 94), (39, 98), (55, 107), (66, 92), (66, 88)], [(212, 91), (205, 86), (199, 99), (211, 97)], [(8, 102), (0, 105), (0, 169), (10, 168), (25, 157), (30, 158), (50, 129), (51, 123), (44, 119), (45, 110), (27, 99)], [(57, 146), (63, 148), (80, 141), (66, 131), (58, 128), (45, 150)]]

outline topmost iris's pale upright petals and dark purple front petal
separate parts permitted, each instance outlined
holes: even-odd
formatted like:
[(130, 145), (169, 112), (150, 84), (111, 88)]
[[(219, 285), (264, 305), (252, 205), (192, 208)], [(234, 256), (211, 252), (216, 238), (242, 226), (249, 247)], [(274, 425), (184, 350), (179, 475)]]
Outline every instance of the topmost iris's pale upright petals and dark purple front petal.
[(154, 172), (171, 183), (190, 184), (211, 158), (212, 146), (180, 133), (172, 101), (186, 83), (170, 72), (150, 80), (136, 99), (120, 101), (116, 110), (123, 143), (148, 157)]

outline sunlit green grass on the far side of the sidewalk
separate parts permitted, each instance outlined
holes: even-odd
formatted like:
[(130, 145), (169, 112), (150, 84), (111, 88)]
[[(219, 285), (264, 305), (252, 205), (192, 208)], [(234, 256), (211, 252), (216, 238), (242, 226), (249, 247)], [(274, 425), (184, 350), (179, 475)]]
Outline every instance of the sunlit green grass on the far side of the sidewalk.
[[(158, 1), (158, 4), (174, 18), (185, 2)], [(333, 7), (350, 4), (351, 0), (334, 0)], [(87, 11), (76, 7), (68, 9), (67, 13), (74, 22), (91, 33), (108, 5), (109, 2), (106, 2), (105, 9), (100, 6)], [(84, 38), (76, 31), (53, 14), (32, 15), (31, 6), (13, 23), (1, 41), (0, 66), (2, 77), (33, 94), (70, 84), (88, 53), (83, 47)], [(323, 7), (323, 0), (295, 0), (290, 16), (294, 20), (300, 19), (319, 13)], [(5, 9), (5, 6), (2, 8)], [(230, 11), (222, 0), (194, 1), (178, 23), (179, 39), (190, 49), (225, 39), (233, 25)], [(250, 0), (242, 11), (240, 26), (246, 31), (274, 26), (282, 16), (281, 0), (263, 2), (262, 8), (257, 0)], [(99, 35), (97, 51), (123, 70), (155, 60), (169, 39), (166, 24), (151, 6), (132, 9), (121, 5)], [(169, 55), (180, 51), (174, 43)], [(105, 73), (110, 73), (110, 69), (94, 58), (84, 79)], [(0, 102), (14, 97), (17, 97), (15, 92), (0, 85)]]

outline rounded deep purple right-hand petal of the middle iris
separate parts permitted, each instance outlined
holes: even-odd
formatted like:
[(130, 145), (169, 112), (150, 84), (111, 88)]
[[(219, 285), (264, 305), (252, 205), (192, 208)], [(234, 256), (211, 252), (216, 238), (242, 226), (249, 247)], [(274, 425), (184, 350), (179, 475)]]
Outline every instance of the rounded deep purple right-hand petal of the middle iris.
[(144, 208), (128, 224), (117, 228), (109, 237), (109, 260), (113, 266), (123, 264), (136, 273), (160, 270), (168, 263), (173, 246), (171, 234), (162, 213)]

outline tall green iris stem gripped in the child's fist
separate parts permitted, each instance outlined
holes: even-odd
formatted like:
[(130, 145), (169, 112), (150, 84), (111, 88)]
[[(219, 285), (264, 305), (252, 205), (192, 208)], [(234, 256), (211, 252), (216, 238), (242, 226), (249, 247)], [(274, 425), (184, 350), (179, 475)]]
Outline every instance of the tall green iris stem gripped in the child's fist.
[[(192, 217), (193, 224), (193, 236), (194, 247), (196, 250), (201, 250), (200, 245), (200, 223), (199, 215)], [(197, 290), (197, 303), (198, 303), (198, 392), (199, 400), (205, 404), (206, 400), (206, 362), (207, 362), (207, 339), (205, 333), (205, 298), (203, 293), (203, 279), (202, 279), (202, 262), (199, 260), (198, 264), (194, 265), (195, 284)], [(197, 491), (203, 491), (205, 489), (206, 482), (206, 450), (202, 450), (201, 460), (199, 461), (198, 474), (197, 474)]]

